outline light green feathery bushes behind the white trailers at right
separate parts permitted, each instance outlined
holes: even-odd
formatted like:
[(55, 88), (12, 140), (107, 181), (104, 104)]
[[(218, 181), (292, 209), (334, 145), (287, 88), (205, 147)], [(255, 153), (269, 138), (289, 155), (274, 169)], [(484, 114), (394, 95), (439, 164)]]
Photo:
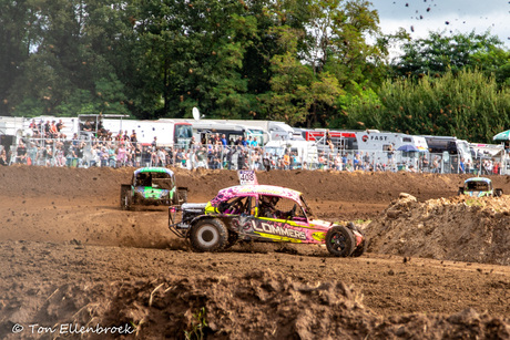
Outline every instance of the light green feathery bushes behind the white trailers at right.
[(351, 102), (350, 124), (409, 134), (455, 135), (490, 143), (510, 125), (510, 90), (480, 71), (387, 81), (378, 99)]

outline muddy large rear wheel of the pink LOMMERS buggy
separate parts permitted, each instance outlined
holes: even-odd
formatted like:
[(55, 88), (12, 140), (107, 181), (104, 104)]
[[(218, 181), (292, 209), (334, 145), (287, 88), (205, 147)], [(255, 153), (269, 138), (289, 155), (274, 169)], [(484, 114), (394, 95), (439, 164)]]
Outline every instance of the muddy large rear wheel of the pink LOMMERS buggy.
[(220, 219), (203, 219), (191, 228), (190, 241), (195, 251), (218, 251), (228, 243), (228, 230)]

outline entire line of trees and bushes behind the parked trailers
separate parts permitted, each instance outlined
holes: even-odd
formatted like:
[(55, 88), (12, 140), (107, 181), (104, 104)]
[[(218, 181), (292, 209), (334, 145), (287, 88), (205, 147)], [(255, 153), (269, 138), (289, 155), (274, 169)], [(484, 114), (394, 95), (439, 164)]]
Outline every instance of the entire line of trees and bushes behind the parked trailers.
[[(510, 52), (380, 32), (363, 0), (0, 0), (0, 115), (276, 120), (489, 142)], [(389, 59), (398, 45), (398, 58)]]

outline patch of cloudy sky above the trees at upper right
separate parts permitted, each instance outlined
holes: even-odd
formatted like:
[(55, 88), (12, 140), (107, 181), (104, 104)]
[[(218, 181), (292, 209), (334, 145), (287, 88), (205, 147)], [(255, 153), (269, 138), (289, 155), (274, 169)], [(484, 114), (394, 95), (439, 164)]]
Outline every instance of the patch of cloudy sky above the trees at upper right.
[[(429, 31), (484, 33), (498, 35), (510, 49), (509, 0), (369, 0), (379, 12), (384, 33), (406, 29), (412, 38), (428, 37)], [(412, 32), (414, 30), (414, 32)]]

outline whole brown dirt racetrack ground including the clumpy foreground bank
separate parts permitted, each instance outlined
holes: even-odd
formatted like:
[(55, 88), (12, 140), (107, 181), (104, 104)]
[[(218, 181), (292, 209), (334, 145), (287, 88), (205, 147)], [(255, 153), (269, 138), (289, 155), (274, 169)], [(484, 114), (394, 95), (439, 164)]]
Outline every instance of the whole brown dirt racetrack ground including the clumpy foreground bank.
[[(434, 230), (439, 228), (416, 233), (422, 243), (415, 249), (414, 233), (396, 233), (419, 218), (421, 203), (456, 195), (466, 176), (259, 173), (259, 183), (303, 192), (317, 217), (354, 220), (377, 235), (368, 254), (338, 259), (323, 247), (286, 244), (192, 253), (169, 231), (165, 208), (119, 208), (120, 185), (131, 173), (0, 168), (0, 338), (33, 338), (39, 327), (40, 337), (51, 338), (55, 334), (49, 329), (65, 322), (137, 326), (141, 338), (184, 338), (197, 330), (202, 307), (208, 324), (204, 331), (215, 339), (510, 338), (510, 267), (493, 265), (504, 262), (508, 247), (490, 248), (493, 260), (483, 264), (449, 257), (453, 253), (443, 244), (428, 249), (425, 258), (416, 248), (437, 241), (441, 236)], [(492, 179), (510, 193), (507, 176)], [(206, 202), (236, 184), (237, 175), (178, 171), (177, 182), (190, 188), (190, 202)], [(417, 203), (405, 205), (408, 215), (389, 220), (388, 209), (399, 207), (402, 192)], [(450, 210), (436, 210), (428, 221), (437, 219), (449, 230), (467, 224)], [(478, 210), (453, 212), (473, 214), (470, 220), (478, 216)], [(441, 219), (445, 214), (450, 215)], [(501, 228), (509, 215), (483, 214), (479, 212), (480, 223), (492, 229)], [(391, 235), (411, 241), (399, 248), (391, 247), (392, 239), (382, 243), (388, 226)], [(470, 241), (462, 251), (476, 249)], [(14, 334), (16, 323), (24, 330)]]

